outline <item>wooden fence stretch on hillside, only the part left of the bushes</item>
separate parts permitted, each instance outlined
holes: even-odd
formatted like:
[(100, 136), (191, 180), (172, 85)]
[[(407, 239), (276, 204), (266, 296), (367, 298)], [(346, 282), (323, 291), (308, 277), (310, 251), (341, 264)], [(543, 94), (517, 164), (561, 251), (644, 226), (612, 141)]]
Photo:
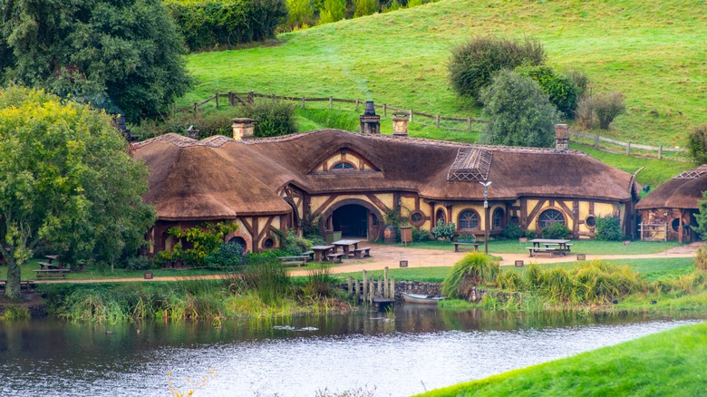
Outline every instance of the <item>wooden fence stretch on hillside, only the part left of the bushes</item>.
[[(302, 107), (306, 107), (307, 102), (328, 102), (329, 103), (329, 109), (334, 108), (334, 102), (341, 102), (341, 103), (352, 103), (355, 105), (356, 111), (358, 111), (359, 106), (362, 104), (365, 104), (365, 101), (363, 100), (351, 100), (351, 99), (342, 99), (342, 98), (334, 98), (334, 97), (321, 97), (321, 98), (307, 98), (307, 97), (295, 97), (295, 96), (281, 96), (281, 95), (268, 95), (264, 93), (257, 93), (257, 92), (228, 92), (228, 93), (215, 93), (213, 96), (207, 98), (204, 101), (201, 102), (195, 102), (193, 105), (187, 106), (185, 108), (179, 109), (179, 111), (198, 111), (199, 108), (203, 107), (206, 105), (208, 102), (216, 102), (216, 109), (221, 105), (220, 99), (224, 98), (228, 100), (228, 105), (230, 106), (237, 106), (239, 103), (243, 105), (249, 105), (253, 104), (256, 101), (256, 98), (265, 98), (265, 99), (270, 99), (273, 101), (291, 101), (291, 102), (297, 102), (301, 103)], [(449, 131), (471, 131), (471, 126), (473, 124), (486, 124), (489, 121), (485, 120), (479, 120), (479, 119), (472, 119), (470, 117), (448, 117), (448, 116), (442, 116), (441, 114), (431, 114), (431, 113), (425, 113), (422, 111), (414, 111), (412, 109), (402, 109), (397, 106), (392, 106), (386, 103), (383, 104), (373, 104), (375, 108), (383, 110), (383, 117), (388, 116), (388, 112), (392, 113), (403, 113), (407, 116), (410, 117), (410, 122), (413, 121), (413, 119), (420, 117), (423, 119), (431, 119), (434, 121), (434, 124), (437, 128), (442, 128), (445, 130)], [(457, 123), (464, 123), (465, 128), (453, 128), (453, 127), (448, 127), (443, 124), (441, 124), (441, 121), (452, 121), (452, 122), (457, 122)]]

